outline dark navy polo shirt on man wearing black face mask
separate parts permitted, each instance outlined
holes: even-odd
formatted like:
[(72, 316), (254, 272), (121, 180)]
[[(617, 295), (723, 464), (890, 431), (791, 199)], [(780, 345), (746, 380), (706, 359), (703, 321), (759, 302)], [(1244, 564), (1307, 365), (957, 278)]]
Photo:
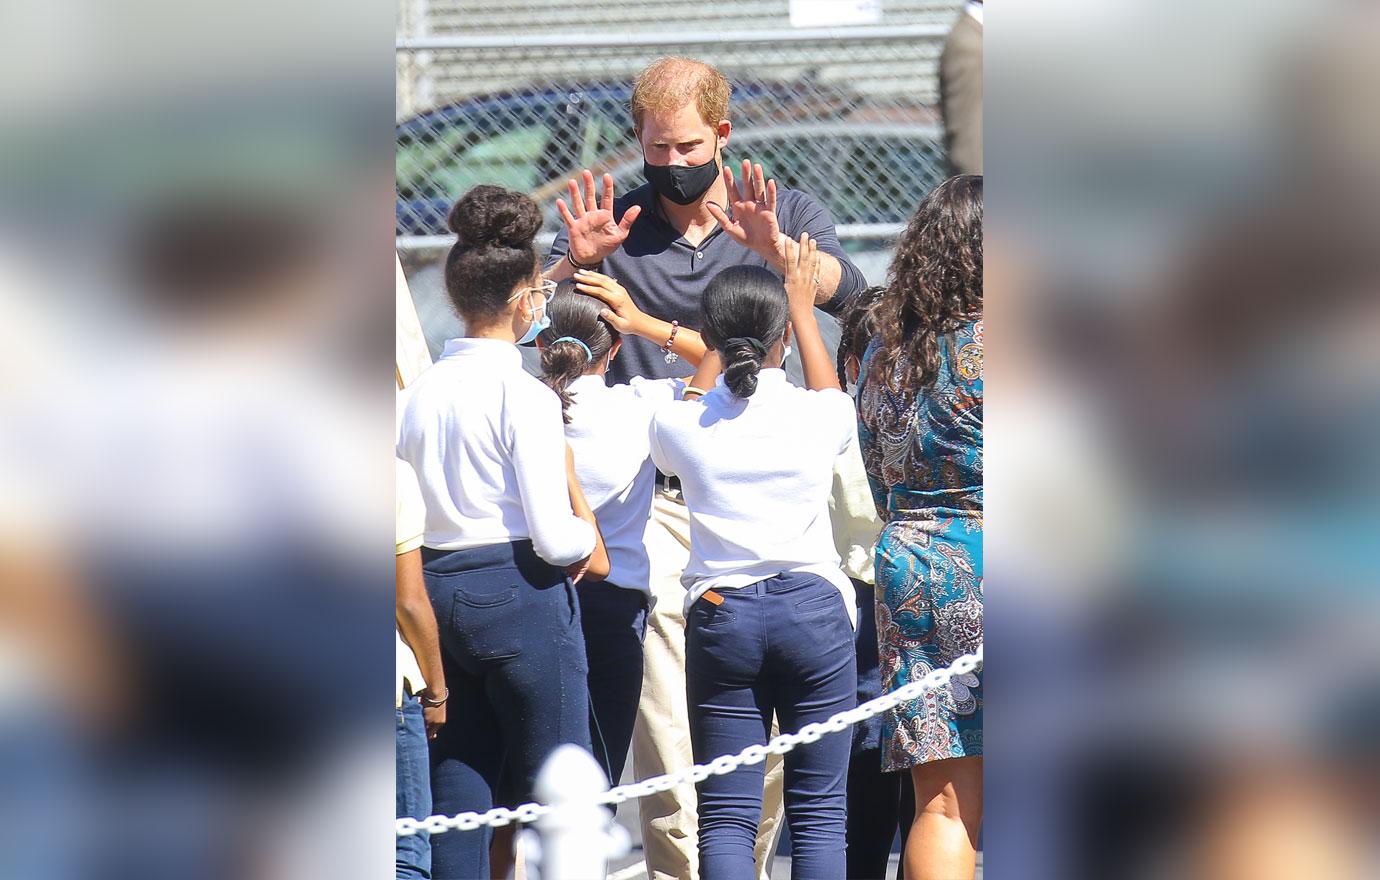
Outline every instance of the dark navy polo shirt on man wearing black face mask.
[[(682, 327), (700, 330), (700, 298), (709, 279), (729, 266), (762, 266), (771, 269), (766, 259), (738, 244), (716, 226), (698, 247), (691, 247), (671, 223), (657, 204), (650, 183), (614, 200), (613, 212), (622, 219), (624, 211), (640, 204), (642, 214), (628, 232), (628, 239), (613, 255), (603, 261), (600, 272), (622, 284), (638, 308), (665, 321), (680, 321)], [(843, 255), (834, 219), (810, 196), (782, 186), (777, 188), (777, 222), (781, 232), (799, 239), (802, 232), (818, 241), (820, 250), (835, 257), (843, 268), (839, 288), (829, 302), (820, 306), (836, 313), (850, 297), (867, 283), (862, 273)], [(566, 258), (569, 234), (564, 225), (551, 246), (546, 268)], [(774, 270), (773, 270), (774, 272)], [(778, 273), (777, 273), (778, 274)], [(618, 357), (609, 368), (609, 382), (627, 382), (632, 377), (667, 378), (689, 377), (694, 368), (684, 359), (673, 364), (665, 361), (661, 343), (625, 337)]]

